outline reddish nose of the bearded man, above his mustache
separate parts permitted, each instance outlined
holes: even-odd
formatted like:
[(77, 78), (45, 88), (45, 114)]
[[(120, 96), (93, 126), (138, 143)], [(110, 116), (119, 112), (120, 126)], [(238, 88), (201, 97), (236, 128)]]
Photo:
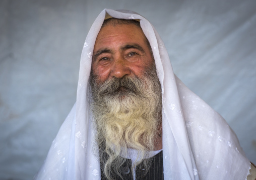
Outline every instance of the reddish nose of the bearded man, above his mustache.
[(125, 60), (119, 59), (113, 63), (110, 73), (111, 77), (121, 79), (124, 76), (129, 75), (131, 75), (131, 69), (129, 68), (129, 65), (125, 63)]

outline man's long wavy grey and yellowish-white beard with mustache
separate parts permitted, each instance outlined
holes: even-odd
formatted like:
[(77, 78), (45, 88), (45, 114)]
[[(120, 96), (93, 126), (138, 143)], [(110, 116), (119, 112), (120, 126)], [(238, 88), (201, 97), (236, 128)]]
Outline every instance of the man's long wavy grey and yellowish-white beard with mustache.
[[(104, 173), (112, 179), (112, 171), (121, 176), (119, 167), (127, 149), (138, 151), (146, 171), (150, 160), (146, 157), (154, 150), (161, 126), (161, 85), (155, 66), (147, 68), (143, 79), (138, 77), (111, 78), (100, 84), (97, 76), (90, 78), (92, 112), (96, 125), (96, 141)], [(139, 158), (139, 157), (138, 157)]]

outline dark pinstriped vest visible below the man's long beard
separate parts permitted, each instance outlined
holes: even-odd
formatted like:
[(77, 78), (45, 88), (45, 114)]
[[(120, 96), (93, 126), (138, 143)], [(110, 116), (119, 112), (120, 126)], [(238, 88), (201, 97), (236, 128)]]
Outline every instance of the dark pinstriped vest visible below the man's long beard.
[[(159, 152), (152, 158), (152, 164), (149, 167), (149, 171), (146, 175), (143, 176), (143, 165), (139, 164), (136, 166), (136, 180), (163, 180), (163, 151)], [(101, 180), (107, 180), (104, 170), (103, 170), (104, 162), (101, 160)], [(125, 163), (121, 166), (122, 169), (122, 178), (123, 180), (133, 180), (133, 172), (132, 172), (132, 160), (126, 159)], [(121, 180), (121, 178), (117, 174), (112, 174), (112, 177), (115, 180)]]

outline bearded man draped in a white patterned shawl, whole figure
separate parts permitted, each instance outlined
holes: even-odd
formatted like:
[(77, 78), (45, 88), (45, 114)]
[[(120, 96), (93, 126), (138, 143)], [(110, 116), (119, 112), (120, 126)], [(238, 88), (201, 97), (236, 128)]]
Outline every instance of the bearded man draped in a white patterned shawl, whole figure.
[(154, 27), (102, 11), (84, 44), (77, 103), (37, 178), (245, 179), (250, 166), (225, 120), (175, 77)]

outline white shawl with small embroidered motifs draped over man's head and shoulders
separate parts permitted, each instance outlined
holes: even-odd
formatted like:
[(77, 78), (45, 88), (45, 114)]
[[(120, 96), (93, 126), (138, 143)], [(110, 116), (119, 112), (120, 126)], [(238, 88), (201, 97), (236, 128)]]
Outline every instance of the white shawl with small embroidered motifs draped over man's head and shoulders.
[(250, 163), (226, 121), (175, 77), (167, 51), (154, 27), (130, 11), (105, 9), (84, 44), (77, 102), (61, 126), (37, 179), (100, 179), (95, 155), (88, 79), (97, 34), (106, 12), (139, 19), (148, 38), (162, 86), (164, 179), (246, 179)]

